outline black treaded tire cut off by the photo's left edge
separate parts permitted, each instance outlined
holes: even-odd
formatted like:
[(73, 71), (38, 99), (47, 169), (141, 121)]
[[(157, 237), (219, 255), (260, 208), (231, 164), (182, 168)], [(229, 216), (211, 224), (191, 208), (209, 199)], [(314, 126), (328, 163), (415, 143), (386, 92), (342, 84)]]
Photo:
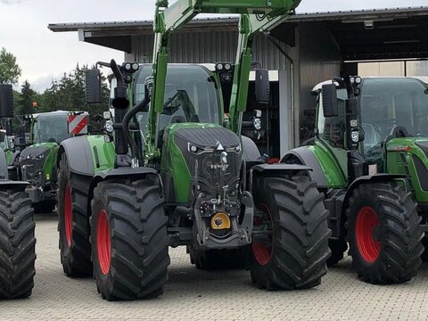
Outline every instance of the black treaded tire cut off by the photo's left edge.
[(36, 274), (34, 229), (27, 193), (0, 192), (0, 299), (31, 295)]

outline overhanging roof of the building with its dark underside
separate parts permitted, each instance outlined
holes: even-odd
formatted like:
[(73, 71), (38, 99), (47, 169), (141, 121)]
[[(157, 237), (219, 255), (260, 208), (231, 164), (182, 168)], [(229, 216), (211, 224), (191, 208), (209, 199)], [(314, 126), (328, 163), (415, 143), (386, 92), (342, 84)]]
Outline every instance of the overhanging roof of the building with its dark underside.
[[(191, 21), (180, 32), (236, 31), (237, 16)], [(292, 15), (271, 33), (294, 45), (292, 27), (323, 23), (341, 48), (343, 61), (428, 58), (428, 6)], [(318, 26), (318, 27), (317, 27)], [(132, 36), (152, 35), (152, 21), (104, 21), (49, 24), (53, 32), (78, 31), (81, 41), (131, 53)], [(304, 41), (304, 39), (300, 39)]]

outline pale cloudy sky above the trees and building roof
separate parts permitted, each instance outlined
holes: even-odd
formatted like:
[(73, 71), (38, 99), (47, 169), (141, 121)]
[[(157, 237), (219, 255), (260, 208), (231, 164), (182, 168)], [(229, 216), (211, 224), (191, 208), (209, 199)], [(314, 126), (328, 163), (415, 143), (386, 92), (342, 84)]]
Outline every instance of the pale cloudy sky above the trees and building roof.
[[(174, 1), (170, 1), (171, 3)], [(428, 6), (428, 0), (301, 0), (297, 12), (349, 11)], [(43, 92), (55, 78), (79, 65), (123, 53), (78, 41), (77, 32), (56, 32), (49, 23), (152, 20), (155, 0), (0, 0), (0, 47), (17, 57), (22, 74)]]

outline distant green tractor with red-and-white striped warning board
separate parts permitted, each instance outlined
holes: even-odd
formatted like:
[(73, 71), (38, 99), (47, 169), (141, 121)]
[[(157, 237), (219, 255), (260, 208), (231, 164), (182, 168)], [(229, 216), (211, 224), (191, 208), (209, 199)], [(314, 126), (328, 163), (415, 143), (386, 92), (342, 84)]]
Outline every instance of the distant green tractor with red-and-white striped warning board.
[(30, 145), (12, 154), (9, 171), (11, 177), (29, 182), (26, 192), (35, 210), (49, 213), (56, 205), (59, 144), (76, 133), (87, 133), (87, 113), (51, 111), (25, 115), (23, 120), (29, 127)]

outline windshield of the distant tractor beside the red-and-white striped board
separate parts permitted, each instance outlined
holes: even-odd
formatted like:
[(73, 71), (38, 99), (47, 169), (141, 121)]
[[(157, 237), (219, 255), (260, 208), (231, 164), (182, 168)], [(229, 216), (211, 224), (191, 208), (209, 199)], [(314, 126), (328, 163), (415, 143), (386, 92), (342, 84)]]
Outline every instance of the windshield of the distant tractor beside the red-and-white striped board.
[(70, 138), (67, 119), (67, 113), (38, 115), (33, 124), (33, 143), (60, 144), (63, 140)]

